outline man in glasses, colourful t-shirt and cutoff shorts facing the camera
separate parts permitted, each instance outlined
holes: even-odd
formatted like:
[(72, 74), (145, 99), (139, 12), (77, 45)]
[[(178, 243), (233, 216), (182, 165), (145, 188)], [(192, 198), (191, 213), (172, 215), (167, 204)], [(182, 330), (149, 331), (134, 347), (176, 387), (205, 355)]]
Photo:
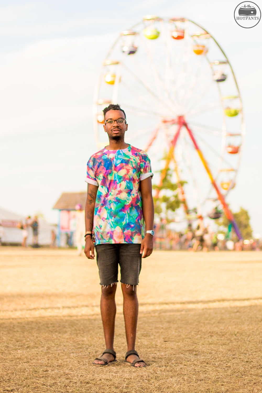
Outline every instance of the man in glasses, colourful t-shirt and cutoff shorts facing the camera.
[(126, 362), (134, 367), (145, 367), (145, 362), (139, 359), (135, 351), (138, 316), (136, 286), (141, 257), (148, 257), (153, 250), (153, 173), (147, 153), (125, 143), (128, 125), (123, 109), (110, 104), (103, 112), (104, 131), (108, 134), (109, 145), (90, 157), (86, 178), (84, 253), (88, 259), (95, 257), (93, 232), (102, 288), (100, 306), (106, 343), (102, 357), (96, 358), (93, 364), (103, 366), (115, 362), (115, 291), (119, 264), (124, 300)]

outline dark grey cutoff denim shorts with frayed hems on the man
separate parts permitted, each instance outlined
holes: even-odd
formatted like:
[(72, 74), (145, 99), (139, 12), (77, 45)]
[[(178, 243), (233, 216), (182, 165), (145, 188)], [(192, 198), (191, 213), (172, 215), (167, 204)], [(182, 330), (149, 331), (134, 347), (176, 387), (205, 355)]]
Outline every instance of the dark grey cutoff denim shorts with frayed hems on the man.
[(141, 244), (97, 244), (97, 266), (99, 268), (100, 285), (107, 286), (118, 282), (118, 264), (121, 280), (126, 285), (137, 285), (141, 270)]

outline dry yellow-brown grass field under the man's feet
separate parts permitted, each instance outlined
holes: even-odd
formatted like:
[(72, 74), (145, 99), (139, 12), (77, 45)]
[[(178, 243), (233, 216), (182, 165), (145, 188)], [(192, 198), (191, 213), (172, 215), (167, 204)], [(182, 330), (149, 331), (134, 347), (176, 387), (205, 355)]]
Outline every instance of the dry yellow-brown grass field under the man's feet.
[(156, 251), (143, 260), (137, 351), (124, 363), (121, 288), (115, 350), (104, 349), (95, 261), (75, 250), (0, 248), (0, 393), (262, 391), (262, 252)]

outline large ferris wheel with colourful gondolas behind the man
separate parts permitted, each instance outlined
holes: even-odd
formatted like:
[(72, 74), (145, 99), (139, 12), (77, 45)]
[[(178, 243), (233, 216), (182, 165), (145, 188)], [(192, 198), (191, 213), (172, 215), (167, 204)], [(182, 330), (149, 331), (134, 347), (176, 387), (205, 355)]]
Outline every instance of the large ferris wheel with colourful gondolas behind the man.
[(177, 221), (194, 219), (196, 211), (216, 219), (222, 208), (241, 238), (225, 198), (240, 164), (242, 101), (214, 37), (187, 18), (151, 15), (122, 31), (94, 94), (99, 149), (108, 143), (102, 111), (109, 103), (126, 111), (126, 141), (148, 152), (154, 182), (161, 185), (168, 169), (174, 173), (183, 202)]

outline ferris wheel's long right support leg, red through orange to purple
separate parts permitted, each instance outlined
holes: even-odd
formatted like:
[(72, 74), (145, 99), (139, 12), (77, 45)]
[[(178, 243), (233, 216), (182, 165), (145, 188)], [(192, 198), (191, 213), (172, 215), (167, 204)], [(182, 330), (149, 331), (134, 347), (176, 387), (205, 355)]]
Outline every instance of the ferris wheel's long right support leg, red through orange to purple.
[(239, 240), (240, 240), (240, 239), (243, 239), (243, 237), (242, 237), (242, 235), (241, 235), (241, 232), (240, 232), (240, 230), (239, 230), (239, 228), (238, 228), (238, 225), (236, 224), (236, 221), (235, 221), (235, 219), (234, 219), (233, 213), (232, 213), (232, 211), (229, 209), (227, 203), (225, 202), (225, 198), (224, 198), (224, 196), (222, 195), (222, 193), (220, 192), (220, 190), (219, 190), (219, 188), (218, 188), (218, 186), (217, 186), (217, 184), (216, 184), (216, 181), (215, 181), (215, 179), (213, 178), (213, 175), (212, 175), (212, 173), (211, 173), (211, 170), (209, 169), (209, 166), (208, 166), (208, 164), (207, 164), (207, 162), (206, 162), (206, 160), (205, 160), (205, 158), (204, 158), (204, 156), (203, 156), (203, 153), (202, 153), (202, 151), (200, 150), (200, 148), (199, 148), (199, 146), (198, 146), (198, 144), (197, 144), (197, 142), (196, 142), (196, 140), (195, 140), (195, 138), (194, 138), (194, 135), (193, 135), (191, 129), (188, 127), (187, 122), (186, 122), (185, 120), (184, 120), (184, 124), (183, 124), (183, 125), (184, 125), (185, 128), (187, 129), (187, 131), (188, 131), (188, 133), (189, 133), (189, 136), (190, 136), (190, 138), (191, 138), (191, 140), (192, 140), (192, 142), (193, 142), (193, 144), (194, 144), (194, 147), (195, 147), (196, 151), (198, 152), (198, 155), (200, 156), (200, 160), (202, 161), (202, 163), (203, 163), (203, 165), (204, 165), (204, 167), (205, 167), (205, 170), (207, 171), (207, 174), (208, 174), (208, 176), (209, 176), (209, 178), (210, 178), (210, 180), (211, 180), (211, 183), (213, 184), (213, 187), (214, 187), (214, 189), (216, 190), (218, 199), (220, 200), (220, 202), (221, 202), (221, 204), (222, 204), (222, 206), (223, 206), (223, 209), (224, 209), (224, 212), (225, 212), (225, 216), (226, 216), (227, 219), (232, 223), (232, 225), (233, 225), (233, 227), (234, 227), (234, 229), (235, 229), (235, 232), (236, 232), (236, 235), (237, 235), (238, 239), (239, 239)]

